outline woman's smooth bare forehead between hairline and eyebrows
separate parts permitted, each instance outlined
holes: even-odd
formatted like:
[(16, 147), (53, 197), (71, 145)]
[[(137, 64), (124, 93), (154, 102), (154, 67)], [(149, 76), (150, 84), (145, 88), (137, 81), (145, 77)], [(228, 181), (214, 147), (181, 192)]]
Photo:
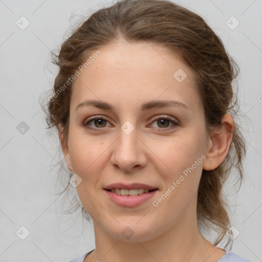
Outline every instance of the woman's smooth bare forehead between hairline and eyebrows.
[(201, 106), (193, 71), (165, 47), (119, 42), (92, 57), (96, 51), (74, 81), (72, 107), (84, 99), (112, 100), (125, 107), (156, 99)]

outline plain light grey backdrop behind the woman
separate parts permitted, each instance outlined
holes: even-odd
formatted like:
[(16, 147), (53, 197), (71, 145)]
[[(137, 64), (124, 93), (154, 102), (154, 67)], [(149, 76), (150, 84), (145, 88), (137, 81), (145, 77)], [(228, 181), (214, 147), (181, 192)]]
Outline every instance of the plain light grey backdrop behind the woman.
[[(262, 261), (262, 1), (173, 2), (206, 19), (241, 69), (239, 103), (246, 116), (240, 118), (247, 158), (241, 190), (233, 195), (232, 186), (225, 189), (232, 205), (232, 225), (240, 232), (231, 251), (254, 262)], [(95, 248), (92, 225), (86, 223), (81, 235), (80, 216), (75, 214), (68, 220), (61, 213), (51, 166), (58, 161), (57, 144), (46, 134), (38, 101), (40, 94), (52, 87), (57, 72), (50, 63), (50, 50), (65, 39), (78, 15), (110, 3), (0, 1), (0, 261), (69, 261)], [(30, 21), (25, 30), (16, 25), (21, 16)], [(226, 25), (231, 16), (240, 22), (234, 30)], [(235, 25), (235, 21), (230, 23)], [(16, 128), (22, 121), (29, 126), (25, 134)], [(30, 231), (25, 240), (16, 234), (21, 226)]]

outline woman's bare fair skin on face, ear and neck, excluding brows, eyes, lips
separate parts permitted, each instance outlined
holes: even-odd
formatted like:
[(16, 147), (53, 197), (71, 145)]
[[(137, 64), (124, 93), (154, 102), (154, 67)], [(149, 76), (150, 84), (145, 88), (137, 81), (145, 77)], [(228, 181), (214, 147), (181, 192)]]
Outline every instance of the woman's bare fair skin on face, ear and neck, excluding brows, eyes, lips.
[[(84, 262), (219, 260), (225, 250), (214, 247), (198, 228), (197, 192), (202, 169), (216, 168), (227, 155), (232, 117), (225, 115), (222, 128), (207, 136), (193, 71), (163, 47), (119, 41), (99, 50), (98, 58), (74, 82), (69, 139), (63, 148), (68, 168), (82, 179), (76, 189), (94, 223), (96, 250)], [(187, 74), (182, 82), (173, 77), (178, 69)], [(75, 111), (87, 99), (111, 103), (115, 111), (92, 105)], [(142, 112), (141, 104), (150, 100), (176, 100), (189, 109), (171, 106)], [(108, 122), (92, 121), (89, 126), (100, 129), (88, 129), (84, 124), (93, 116), (107, 117)], [(179, 124), (161, 125), (154, 119), (167, 116)], [(135, 128), (129, 135), (121, 130), (126, 121)], [(205, 160), (154, 207), (152, 201), (202, 155)], [(139, 182), (159, 190), (140, 206), (123, 208), (103, 190), (117, 182)], [(134, 231), (129, 239), (121, 234), (126, 226)]]

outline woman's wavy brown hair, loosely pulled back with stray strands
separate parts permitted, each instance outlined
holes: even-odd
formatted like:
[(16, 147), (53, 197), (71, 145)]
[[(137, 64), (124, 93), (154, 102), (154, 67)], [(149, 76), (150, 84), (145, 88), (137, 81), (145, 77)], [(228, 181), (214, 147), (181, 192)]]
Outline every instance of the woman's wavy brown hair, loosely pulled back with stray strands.
[[(58, 65), (59, 72), (54, 81), (53, 96), (51, 99), (49, 97), (45, 112), (48, 128), (59, 128), (59, 125), (63, 128), (63, 139), (60, 141), (62, 147), (67, 146), (68, 141), (73, 82), (67, 83), (62, 91), (61, 87), (94, 50), (117, 43), (119, 39), (134, 43), (147, 41), (159, 44), (179, 55), (193, 69), (204, 105), (208, 134), (211, 132), (211, 126), (221, 125), (221, 119), (226, 113), (237, 116), (234, 109), (237, 97), (233, 103), (232, 83), (238, 75), (239, 68), (227, 54), (221, 39), (204, 19), (167, 0), (124, 0), (94, 12), (62, 43), (58, 55), (52, 53), (53, 63)], [(219, 237), (214, 245), (224, 239), (230, 227), (223, 185), (233, 168), (237, 169), (238, 180), (242, 182), (242, 161), (245, 154), (244, 137), (235, 123), (226, 159), (214, 170), (202, 172), (198, 189), (198, 224), (205, 230), (216, 227)], [(72, 175), (71, 173), (70, 176)], [(69, 177), (67, 182), (68, 180)], [(68, 191), (68, 187), (69, 182), (62, 192)], [(79, 205), (77, 201), (72, 203), (74, 210)], [(83, 207), (81, 210), (82, 215), (90, 218), (86, 216), (88, 214)], [(229, 243), (230, 239), (225, 247)]]

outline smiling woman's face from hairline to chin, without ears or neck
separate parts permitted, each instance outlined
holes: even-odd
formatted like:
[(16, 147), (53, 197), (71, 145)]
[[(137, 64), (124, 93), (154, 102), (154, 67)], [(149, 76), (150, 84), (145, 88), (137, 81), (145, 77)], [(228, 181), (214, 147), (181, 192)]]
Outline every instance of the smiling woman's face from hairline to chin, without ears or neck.
[(100, 52), (74, 82), (64, 151), (82, 205), (95, 227), (131, 242), (193, 224), (207, 151), (193, 72), (152, 43)]

